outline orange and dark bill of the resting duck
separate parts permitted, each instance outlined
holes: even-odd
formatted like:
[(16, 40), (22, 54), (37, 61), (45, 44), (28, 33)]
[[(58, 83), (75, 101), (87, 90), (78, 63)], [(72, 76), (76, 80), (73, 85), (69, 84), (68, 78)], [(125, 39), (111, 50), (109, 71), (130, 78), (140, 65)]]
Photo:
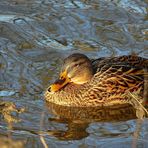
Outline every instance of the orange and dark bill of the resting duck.
[(70, 82), (70, 78), (68, 78), (67, 72), (63, 71), (60, 74), (60, 78), (58, 80), (56, 80), (53, 84), (50, 85), (49, 91), (56, 92), (56, 91), (60, 90), (61, 88), (63, 88), (69, 82)]

